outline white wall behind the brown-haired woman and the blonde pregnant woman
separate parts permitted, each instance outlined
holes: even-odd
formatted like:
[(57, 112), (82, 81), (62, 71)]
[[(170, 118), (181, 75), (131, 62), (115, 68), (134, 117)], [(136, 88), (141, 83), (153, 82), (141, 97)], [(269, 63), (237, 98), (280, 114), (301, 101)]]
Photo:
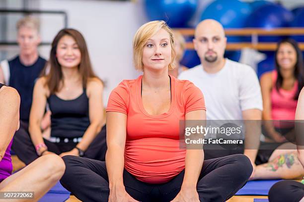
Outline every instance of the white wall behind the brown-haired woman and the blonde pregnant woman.
[[(83, 34), (94, 70), (106, 82), (105, 105), (110, 92), (123, 79), (134, 79), (140, 74), (132, 64), (132, 39), (136, 30), (146, 22), (140, 3), (41, 0), (39, 4), (42, 10), (65, 10), (69, 17), (69, 27)], [(58, 23), (62, 23), (62, 20), (42, 19), (42, 38), (53, 38), (59, 31)], [(48, 57), (49, 50), (50, 47), (42, 47), (40, 52)]]

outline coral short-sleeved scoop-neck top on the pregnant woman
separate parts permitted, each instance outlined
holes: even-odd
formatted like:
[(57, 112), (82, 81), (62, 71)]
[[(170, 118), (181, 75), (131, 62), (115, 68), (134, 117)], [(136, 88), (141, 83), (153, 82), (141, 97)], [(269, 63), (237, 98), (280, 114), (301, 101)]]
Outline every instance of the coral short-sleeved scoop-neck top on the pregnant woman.
[(142, 76), (122, 81), (112, 91), (106, 111), (127, 114), (125, 169), (140, 181), (165, 183), (185, 168), (179, 121), (187, 112), (206, 110), (204, 97), (190, 81), (171, 76), (170, 109), (151, 115), (142, 102), (141, 84)]

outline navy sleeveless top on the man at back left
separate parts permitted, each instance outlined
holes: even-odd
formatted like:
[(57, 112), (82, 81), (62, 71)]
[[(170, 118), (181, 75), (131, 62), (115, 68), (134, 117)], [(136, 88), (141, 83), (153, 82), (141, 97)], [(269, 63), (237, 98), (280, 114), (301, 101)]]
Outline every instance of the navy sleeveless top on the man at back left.
[(10, 72), (8, 86), (16, 89), (20, 95), (20, 119), (22, 121), (28, 122), (29, 120), (35, 81), (39, 77), (45, 63), (46, 60), (40, 56), (30, 66), (22, 64), (19, 56), (8, 61)]

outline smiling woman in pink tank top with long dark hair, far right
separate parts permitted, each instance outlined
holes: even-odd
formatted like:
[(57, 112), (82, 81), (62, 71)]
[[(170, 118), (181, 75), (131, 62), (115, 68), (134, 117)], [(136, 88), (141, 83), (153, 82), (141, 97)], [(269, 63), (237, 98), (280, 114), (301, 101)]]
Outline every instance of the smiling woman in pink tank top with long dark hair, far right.
[(275, 70), (261, 77), (263, 134), (275, 142), (285, 142), (284, 135), (292, 134), (294, 123), (284, 120), (295, 120), (299, 94), (304, 86), (303, 56), (297, 42), (292, 39), (279, 42), (275, 64)]

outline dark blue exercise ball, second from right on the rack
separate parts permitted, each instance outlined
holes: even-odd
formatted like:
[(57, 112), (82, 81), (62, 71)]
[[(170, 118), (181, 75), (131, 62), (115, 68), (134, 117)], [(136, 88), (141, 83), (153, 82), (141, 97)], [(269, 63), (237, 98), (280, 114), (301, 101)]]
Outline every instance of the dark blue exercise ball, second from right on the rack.
[[(280, 4), (265, 4), (258, 7), (247, 18), (246, 27), (274, 29), (280, 27), (289, 27), (293, 21), (294, 15)], [(259, 37), (261, 42), (277, 42), (281, 37)]]

